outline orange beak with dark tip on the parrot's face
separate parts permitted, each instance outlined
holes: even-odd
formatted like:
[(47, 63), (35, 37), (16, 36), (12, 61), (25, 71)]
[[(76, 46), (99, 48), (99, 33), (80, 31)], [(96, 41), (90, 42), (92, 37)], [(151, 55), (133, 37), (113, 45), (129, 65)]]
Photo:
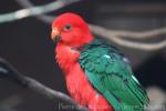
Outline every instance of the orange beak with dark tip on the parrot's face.
[(53, 41), (56, 41), (56, 39), (60, 39), (60, 30), (58, 28), (52, 28), (52, 32), (51, 32), (51, 39)]

